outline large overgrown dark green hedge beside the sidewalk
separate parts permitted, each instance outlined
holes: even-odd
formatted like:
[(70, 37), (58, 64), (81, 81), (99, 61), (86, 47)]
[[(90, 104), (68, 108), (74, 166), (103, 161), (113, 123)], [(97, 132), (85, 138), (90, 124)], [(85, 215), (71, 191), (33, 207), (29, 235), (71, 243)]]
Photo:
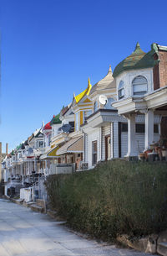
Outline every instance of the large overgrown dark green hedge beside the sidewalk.
[(104, 239), (167, 228), (166, 184), (166, 163), (123, 160), (46, 182), (51, 205), (71, 227)]

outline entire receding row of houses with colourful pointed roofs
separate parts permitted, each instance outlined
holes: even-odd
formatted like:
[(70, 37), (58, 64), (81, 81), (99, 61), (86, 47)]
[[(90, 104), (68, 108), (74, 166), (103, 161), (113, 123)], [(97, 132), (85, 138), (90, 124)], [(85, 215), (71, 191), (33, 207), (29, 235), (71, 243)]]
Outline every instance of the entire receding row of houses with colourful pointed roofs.
[(5, 194), (38, 184), (39, 177), (92, 169), (109, 159), (138, 159), (145, 152), (167, 157), (166, 116), (167, 47), (152, 44), (144, 53), (137, 43), (114, 72), (109, 66), (94, 86), (89, 80), (68, 106), (6, 156)]

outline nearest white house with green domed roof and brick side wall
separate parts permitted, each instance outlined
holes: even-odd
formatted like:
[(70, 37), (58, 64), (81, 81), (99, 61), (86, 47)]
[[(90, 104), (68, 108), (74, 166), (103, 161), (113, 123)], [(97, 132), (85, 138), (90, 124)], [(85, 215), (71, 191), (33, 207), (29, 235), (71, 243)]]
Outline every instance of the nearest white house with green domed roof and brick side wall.
[[(151, 50), (144, 53), (138, 43), (132, 55), (121, 61), (114, 70), (117, 101), (112, 105), (118, 109), (119, 115), (128, 120), (127, 156), (130, 158), (139, 154), (137, 129), (143, 133), (140, 152), (158, 143), (162, 135), (161, 122), (166, 120), (167, 104), (166, 60), (167, 47), (152, 44)], [(136, 124), (138, 118), (142, 120), (139, 127)], [(163, 136), (166, 137), (166, 134)]]

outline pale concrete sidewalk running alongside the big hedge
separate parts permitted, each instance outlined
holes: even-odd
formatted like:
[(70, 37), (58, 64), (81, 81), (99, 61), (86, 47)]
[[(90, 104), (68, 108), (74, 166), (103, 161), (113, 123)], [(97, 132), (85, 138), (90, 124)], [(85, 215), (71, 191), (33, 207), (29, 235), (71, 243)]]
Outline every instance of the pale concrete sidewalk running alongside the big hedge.
[(80, 238), (47, 215), (0, 199), (0, 256), (146, 256)]

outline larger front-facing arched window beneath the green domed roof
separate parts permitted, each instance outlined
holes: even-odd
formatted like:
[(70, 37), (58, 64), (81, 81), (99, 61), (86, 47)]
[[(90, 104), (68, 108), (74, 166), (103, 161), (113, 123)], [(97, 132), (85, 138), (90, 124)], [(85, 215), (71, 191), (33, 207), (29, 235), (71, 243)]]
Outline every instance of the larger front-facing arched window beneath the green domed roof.
[(135, 77), (132, 87), (134, 95), (144, 95), (147, 92), (147, 79), (144, 76)]

